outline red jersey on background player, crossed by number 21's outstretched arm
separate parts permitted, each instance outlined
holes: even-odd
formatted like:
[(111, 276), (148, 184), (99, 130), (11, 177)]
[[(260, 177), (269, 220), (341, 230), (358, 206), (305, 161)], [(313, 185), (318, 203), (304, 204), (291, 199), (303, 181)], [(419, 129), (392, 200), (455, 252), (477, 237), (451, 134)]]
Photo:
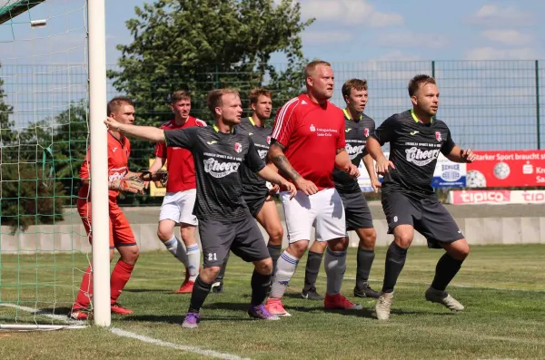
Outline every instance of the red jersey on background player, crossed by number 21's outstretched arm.
[[(176, 125), (176, 122), (171, 120), (161, 125), (161, 129), (167, 131), (192, 126), (206, 126), (206, 122), (190, 116), (183, 125)], [(155, 145), (155, 156), (166, 158), (166, 170), (168, 170), (166, 192), (178, 192), (196, 188), (195, 164), (191, 151), (182, 148), (167, 147), (164, 142), (158, 142)]]

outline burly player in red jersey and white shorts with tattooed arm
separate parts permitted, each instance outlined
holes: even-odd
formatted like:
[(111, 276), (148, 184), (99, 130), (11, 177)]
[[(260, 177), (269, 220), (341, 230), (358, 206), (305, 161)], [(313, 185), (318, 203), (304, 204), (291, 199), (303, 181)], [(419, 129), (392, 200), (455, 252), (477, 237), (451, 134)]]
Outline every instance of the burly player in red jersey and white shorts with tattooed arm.
[(342, 110), (329, 102), (334, 85), (331, 64), (307, 64), (305, 78), (307, 93), (284, 104), (276, 114), (269, 150), (269, 158), (281, 175), (300, 190), (292, 201), (287, 193), (281, 195), (290, 245), (278, 260), (266, 305), (269, 312), (279, 316), (289, 316), (282, 296), (309, 245), (312, 225), (316, 238), (328, 241), (325, 308), (362, 308), (341, 295), (348, 240), (344, 237), (342, 199), (332, 181), (334, 167), (352, 177), (358, 177), (359, 171), (344, 150)]

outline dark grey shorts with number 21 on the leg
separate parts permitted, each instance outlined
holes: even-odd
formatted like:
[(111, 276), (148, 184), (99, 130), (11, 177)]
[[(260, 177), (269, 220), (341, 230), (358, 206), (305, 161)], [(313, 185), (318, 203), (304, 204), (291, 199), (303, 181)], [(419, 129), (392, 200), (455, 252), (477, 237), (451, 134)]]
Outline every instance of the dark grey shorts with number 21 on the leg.
[(254, 219), (221, 222), (199, 219), (203, 268), (221, 267), (229, 250), (246, 262), (271, 258)]

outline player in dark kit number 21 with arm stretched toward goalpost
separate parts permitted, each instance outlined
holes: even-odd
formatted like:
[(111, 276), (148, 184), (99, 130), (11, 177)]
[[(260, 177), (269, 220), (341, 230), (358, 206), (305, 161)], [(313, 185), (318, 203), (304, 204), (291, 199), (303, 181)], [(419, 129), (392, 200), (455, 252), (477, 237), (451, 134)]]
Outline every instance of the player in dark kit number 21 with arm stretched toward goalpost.
[(213, 127), (163, 131), (150, 126), (122, 124), (111, 118), (104, 122), (110, 129), (137, 138), (164, 141), (169, 147), (183, 147), (192, 151), (197, 176), (195, 215), (199, 219), (204, 261), (203, 270), (195, 280), (189, 311), (182, 326), (198, 326), (203, 302), (229, 250), (243, 260), (253, 262), (252, 301), (248, 314), (258, 319), (278, 320), (278, 316), (272, 315), (263, 306), (271, 287), (272, 260), (261, 230), (242, 199), (238, 169), (244, 163), (263, 180), (282, 186), (291, 197), (297, 190), (292, 183), (265, 166), (251, 137), (233, 131), (243, 113), (237, 91), (213, 90), (208, 96), (208, 107), (215, 118)]

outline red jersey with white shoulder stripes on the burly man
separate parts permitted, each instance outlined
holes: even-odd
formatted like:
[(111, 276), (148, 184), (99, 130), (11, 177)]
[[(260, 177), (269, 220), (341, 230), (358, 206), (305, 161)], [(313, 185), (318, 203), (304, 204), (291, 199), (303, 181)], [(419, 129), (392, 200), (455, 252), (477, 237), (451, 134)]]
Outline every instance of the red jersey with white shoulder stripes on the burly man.
[(344, 148), (344, 114), (340, 108), (329, 101), (320, 105), (301, 94), (277, 112), (272, 139), (285, 146), (286, 158), (302, 178), (319, 190), (333, 187), (337, 149)]

